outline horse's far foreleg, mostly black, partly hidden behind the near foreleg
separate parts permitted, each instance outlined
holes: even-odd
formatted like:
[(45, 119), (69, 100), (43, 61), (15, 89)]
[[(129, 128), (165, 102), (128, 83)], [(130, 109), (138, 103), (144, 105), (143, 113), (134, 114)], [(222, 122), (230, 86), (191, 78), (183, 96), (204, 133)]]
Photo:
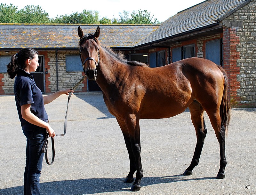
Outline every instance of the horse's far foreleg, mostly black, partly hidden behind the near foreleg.
[(129, 136), (129, 133), (128, 133), (128, 130), (127, 130), (127, 127), (126, 127), (124, 121), (122, 121), (120, 119), (116, 119), (116, 120), (117, 120), (117, 122), (122, 130), (122, 133), (124, 135), (124, 142), (125, 142), (125, 145), (126, 145), (126, 148), (128, 151), (128, 155), (129, 155), (129, 160), (130, 160), (130, 171), (129, 171), (129, 174), (127, 175), (127, 177), (125, 178), (124, 183), (132, 183), (134, 181), (133, 174), (136, 171), (136, 163), (135, 163), (135, 158), (134, 158), (134, 155), (132, 152), (130, 136)]

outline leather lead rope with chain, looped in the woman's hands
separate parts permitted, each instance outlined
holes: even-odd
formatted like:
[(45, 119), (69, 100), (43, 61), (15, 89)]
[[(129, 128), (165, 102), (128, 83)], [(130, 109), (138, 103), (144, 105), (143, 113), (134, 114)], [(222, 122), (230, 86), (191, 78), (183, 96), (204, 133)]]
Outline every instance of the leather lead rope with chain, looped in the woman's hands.
[[(84, 76), (78, 83), (76, 83), (76, 85), (71, 89), (71, 90), (76, 90), (76, 87), (82, 83), (84, 81), (86, 76)], [(68, 95), (68, 103), (69, 103), (69, 99), (71, 97), (72, 93), (69, 93)], [(66, 134), (67, 132), (67, 119), (68, 119), (68, 105), (67, 105), (67, 111), (66, 111), (66, 115), (65, 115), (65, 121), (64, 121), (64, 133), (63, 134), (55, 134), (56, 136), (62, 137)], [(45, 140), (44, 140), (44, 145), (42, 148), (42, 153), (45, 153), (45, 161), (47, 164), (51, 165), (54, 162), (54, 158), (55, 158), (55, 148), (54, 148), (54, 139), (52, 138), (52, 162), (49, 163), (48, 161), (48, 155), (47, 155), (47, 150), (48, 150), (48, 139), (49, 139), (49, 134), (46, 134)]]

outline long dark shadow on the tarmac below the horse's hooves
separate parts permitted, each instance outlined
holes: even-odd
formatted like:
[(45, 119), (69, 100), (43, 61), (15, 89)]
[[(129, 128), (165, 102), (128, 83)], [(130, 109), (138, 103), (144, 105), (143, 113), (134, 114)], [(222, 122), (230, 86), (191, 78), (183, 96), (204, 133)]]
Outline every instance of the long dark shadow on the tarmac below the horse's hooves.
[[(173, 183), (190, 180), (207, 180), (215, 177), (188, 178), (183, 175), (165, 177), (143, 177), (142, 187), (154, 184)], [(95, 194), (103, 192), (130, 191), (132, 184), (125, 184), (124, 178), (90, 178), (53, 181), (40, 184), (42, 194)], [(142, 188), (143, 189), (143, 188)], [(0, 194), (23, 194), (23, 186), (0, 189)]]

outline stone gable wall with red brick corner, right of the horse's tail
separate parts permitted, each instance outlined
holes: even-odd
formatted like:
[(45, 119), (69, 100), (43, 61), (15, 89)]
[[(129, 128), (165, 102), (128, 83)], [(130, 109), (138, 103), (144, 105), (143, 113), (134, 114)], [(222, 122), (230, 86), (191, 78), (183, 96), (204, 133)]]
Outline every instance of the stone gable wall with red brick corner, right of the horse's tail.
[[(256, 1), (237, 10), (222, 23), (224, 68), (230, 79), (230, 98), (233, 107), (256, 106)], [(237, 25), (234, 21), (240, 21)], [(229, 36), (229, 38), (228, 38)], [(226, 45), (225, 45), (226, 44)]]

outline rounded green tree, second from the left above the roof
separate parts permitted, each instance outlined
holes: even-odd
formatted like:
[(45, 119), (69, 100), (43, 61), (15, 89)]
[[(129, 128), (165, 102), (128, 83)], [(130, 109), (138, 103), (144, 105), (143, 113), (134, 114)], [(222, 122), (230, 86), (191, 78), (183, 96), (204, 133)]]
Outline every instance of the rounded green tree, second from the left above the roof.
[(48, 13), (42, 10), (40, 6), (27, 5), (18, 11), (19, 23), (50, 23)]

